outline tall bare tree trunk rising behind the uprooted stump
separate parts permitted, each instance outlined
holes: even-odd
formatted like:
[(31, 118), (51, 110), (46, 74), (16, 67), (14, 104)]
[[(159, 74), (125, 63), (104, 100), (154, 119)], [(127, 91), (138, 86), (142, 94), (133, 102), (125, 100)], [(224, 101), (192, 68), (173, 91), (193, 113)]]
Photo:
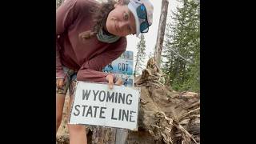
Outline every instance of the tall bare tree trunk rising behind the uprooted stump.
[(162, 42), (165, 35), (166, 30), (166, 18), (167, 18), (167, 12), (168, 12), (168, 4), (169, 0), (162, 0), (162, 8), (161, 8), (161, 15), (159, 19), (159, 25), (158, 25), (158, 37), (156, 46), (154, 48), (154, 60), (157, 63), (157, 66), (160, 68), (161, 63), (161, 54), (162, 54)]

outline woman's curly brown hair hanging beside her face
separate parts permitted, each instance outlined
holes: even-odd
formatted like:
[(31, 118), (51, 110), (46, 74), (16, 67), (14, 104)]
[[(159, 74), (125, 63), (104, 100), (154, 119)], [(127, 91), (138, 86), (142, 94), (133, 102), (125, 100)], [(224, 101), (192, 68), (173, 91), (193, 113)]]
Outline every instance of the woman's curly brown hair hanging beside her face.
[[(128, 5), (130, 0), (122, 0), (122, 2), (124, 5)], [(117, 2), (114, 0), (108, 0), (107, 2), (102, 2), (102, 4), (97, 8), (92, 9), (92, 12), (94, 13), (93, 20), (95, 22), (94, 30), (86, 30), (80, 33), (79, 38), (81, 38), (82, 41), (92, 38), (98, 34), (98, 31), (106, 25), (108, 14), (110, 11), (114, 10), (114, 4), (116, 3)]]

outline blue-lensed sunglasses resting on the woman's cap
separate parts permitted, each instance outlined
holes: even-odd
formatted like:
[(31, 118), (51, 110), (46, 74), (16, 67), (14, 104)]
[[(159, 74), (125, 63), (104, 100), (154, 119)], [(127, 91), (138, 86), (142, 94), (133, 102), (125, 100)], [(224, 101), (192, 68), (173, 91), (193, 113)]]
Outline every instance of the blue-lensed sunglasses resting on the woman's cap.
[(136, 9), (138, 18), (141, 20), (144, 20), (144, 22), (141, 22), (139, 28), (141, 33), (147, 33), (149, 31), (149, 22), (147, 22), (147, 13), (146, 13), (146, 7), (142, 4), (137, 7)]

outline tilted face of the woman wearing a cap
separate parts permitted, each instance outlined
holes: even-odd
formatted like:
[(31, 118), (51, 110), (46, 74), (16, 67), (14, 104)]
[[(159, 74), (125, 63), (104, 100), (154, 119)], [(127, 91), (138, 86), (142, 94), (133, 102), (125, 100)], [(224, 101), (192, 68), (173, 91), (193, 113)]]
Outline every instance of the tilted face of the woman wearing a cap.
[(120, 37), (135, 34), (135, 19), (128, 6), (116, 4), (114, 7), (106, 19), (106, 30)]

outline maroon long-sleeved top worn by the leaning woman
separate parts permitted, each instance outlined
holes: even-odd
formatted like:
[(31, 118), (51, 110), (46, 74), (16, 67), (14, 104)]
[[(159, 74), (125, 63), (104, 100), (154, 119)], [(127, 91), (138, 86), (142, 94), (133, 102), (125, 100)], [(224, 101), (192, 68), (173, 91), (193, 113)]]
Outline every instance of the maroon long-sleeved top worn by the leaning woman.
[(94, 0), (68, 0), (56, 11), (56, 78), (64, 78), (62, 66), (77, 70), (78, 81), (106, 82), (102, 72), (126, 50), (126, 38), (117, 42), (98, 41), (94, 36), (81, 42), (78, 35), (93, 30), (93, 13), (90, 9), (99, 5)]

